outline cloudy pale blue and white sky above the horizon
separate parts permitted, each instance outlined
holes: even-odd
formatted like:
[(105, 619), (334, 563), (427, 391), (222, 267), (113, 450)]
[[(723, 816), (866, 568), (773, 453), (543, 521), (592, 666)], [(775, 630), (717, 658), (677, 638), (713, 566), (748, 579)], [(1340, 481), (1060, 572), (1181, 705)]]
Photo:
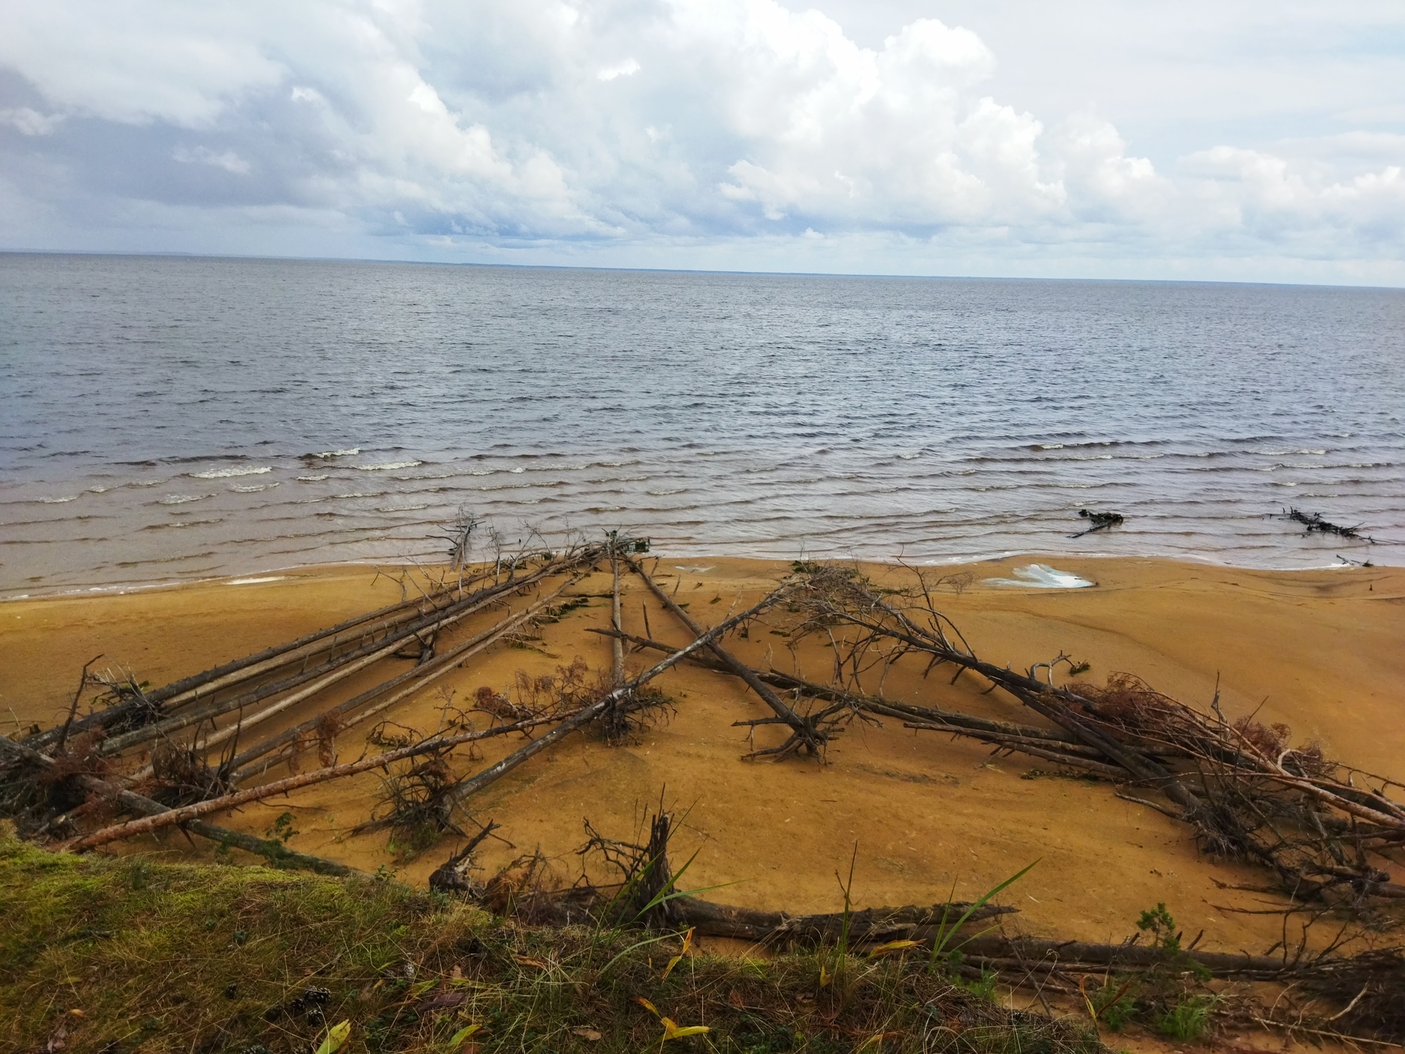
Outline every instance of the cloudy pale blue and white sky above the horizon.
[(0, 0), (0, 249), (1405, 285), (1405, 3)]

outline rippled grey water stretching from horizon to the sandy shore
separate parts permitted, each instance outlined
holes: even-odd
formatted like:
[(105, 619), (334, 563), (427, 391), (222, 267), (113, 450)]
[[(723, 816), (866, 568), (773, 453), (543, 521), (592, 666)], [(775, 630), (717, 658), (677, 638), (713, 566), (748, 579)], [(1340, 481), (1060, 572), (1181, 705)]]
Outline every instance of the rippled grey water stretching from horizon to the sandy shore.
[(0, 593), (426, 558), (459, 507), (677, 557), (1405, 564), (1402, 417), (1394, 289), (0, 254)]

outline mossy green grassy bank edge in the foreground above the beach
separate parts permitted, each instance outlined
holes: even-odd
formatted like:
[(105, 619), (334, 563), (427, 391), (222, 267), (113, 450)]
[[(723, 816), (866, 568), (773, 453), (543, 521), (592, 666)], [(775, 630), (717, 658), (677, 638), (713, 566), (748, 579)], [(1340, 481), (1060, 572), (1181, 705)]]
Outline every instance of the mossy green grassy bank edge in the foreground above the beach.
[(854, 956), (840, 995), (819, 984), (833, 949), (694, 953), (663, 977), (681, 939), (638, 936), (527, 928), (393, 883), (51, 854), (0, 826), (0, 1047), (311, 1054), (347, 1022), (351, 1054), (1104, 1050), (922, 956)]

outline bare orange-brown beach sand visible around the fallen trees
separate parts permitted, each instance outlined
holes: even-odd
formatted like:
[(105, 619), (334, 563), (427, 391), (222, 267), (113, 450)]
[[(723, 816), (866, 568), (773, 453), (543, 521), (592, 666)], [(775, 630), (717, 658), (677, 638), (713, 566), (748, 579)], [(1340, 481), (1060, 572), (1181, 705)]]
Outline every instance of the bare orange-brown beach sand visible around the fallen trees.
[[(1283, 721), (1295, 739), (1316, 739), (1326, 752), (1363, 769), (1405, 777), (1405, 569), (1342, 568), (1269, 572), (1201, 566), (1158, 559), (1054, 558), (1061, 571), (1097, 582), (1093, 589), (1044, 590), (984, 585), (1009, 578), (1030, 558), (965, 568), (975, 582), (961, 594), (946, 590), (940, 603), (982, 658), (1016, 668), (1044, 662), (1061, 651), (1090, 663), (1080, 679), (1102, 683), (1130, 672), (1184, 701), (1208, 705), (1217, 683), (1229, 717), (1257, 708), (1260, 721)], [(788, 571), (781, 562), (742, 559), (662, 559), (659, 573), (677, 599), (705, 623), (718, 621), (733, 601), (742, 610)], [(870, 573), (902, 579), (906, 572), (870, 566)], [(947, 573), (960, 568), (944, 569)], [(251, 576), (264, 578), (264, 576)], [(625, 630), (643, 632), (646, 590), (622, 579)], [(587, 627), (604, 627), (608, 571), (580, 582), (575, 592), (596, 594), (559, 623), (542, 627), (535, 649), (495, 646), (434, 687), (406, 700), (386, 717), (420, 731), (440, 720), (443, 691), (465, 704), (479, 686), (496, 691), (517, 670), (552, 672), (583, 658), (608, 669), (610, 642)], [(94, 594), (0, 604), (0, 715), (15, 724), (55, 724), (72, 700), (79, 670), (103, 653), (98, 668), (131, 668), (139, 679), (166, 683), (228, 659), (291, 639), (311, 630), (391, 603), (400, 586), (364, 566), (282, 572), (275, 580), (226, 580), (126, 594)], [(714, 603), (715, 599), (715, 603)], [(511, 601), (521, 609), (528, 597)], [(653, 635), (688, 639), (648, 597)], [(483, 611), (459, 627), (455, 639), (502, 618)], [(729, 645), (731, 646), (731, 645)], [(753, 665), (767, 652), (791, 670), (785, 638), (753, 630), (735, 651)], [(829, 659), (806, 645), (802, 672), (826, 680)], [(628, 662), (641, 668), (646, 656)], [(979, 694), (974, 679), (950, 684), (950, 673), (920, 677), (909, 661), (889, 675), (889, 697), (948, 710), (1040, 724), (1013, 701)], [(332, 701), (400, 672), (372, 669), (287, 715), (303, 720)], [(386, 672), (388, 670), (388, 672)], [(636, 742), (608, 748), (575, 735), (559, 749), (532, 759), (471, 800), (479, 821), (496, 819), (513, 847), (488, 843), (493, 867), (540, 847), (556, 868), (573, 877), (584, 842), (583, 819), (601, 832), (628, 836), (639, 811), (665, 801), (687, 811), (677, 835), (677, 860), (698, 849), (687, 885), (735, 883), (711, 894), (729, 902), (833, 911), (840, 905), (835, 871), (847, 867), (858, 846), (854, 897), (860, 905), (930, 904), (955, 887), (974, 898), (1033, 860), (1038, 866), (1005, 894), (1020, 908), (1013, 928), (1083, 940), (1121, 940), (1135, 932), (1138, 912), (1165, 902), (1187, 940), (1204, 930), (1203, 949), (1264, 951), (1280, 936), (1276, 916), (1241, 915), (1227, 906), (1263, 906), (1260, 894), (1224, 884), (1259, 884), (1248, 867), (1201, 859), (1187, 829), (1149, 808), (1120, 801), (1109, 783), (1037, 774), (1033, 759), (991, 757), (989, 748), (932, 732), (856, 724), (825, 765), (743, 762), (745, 731), (732, 722), (769, 714), (740, 682), (679, 666), (659, 687), (676, 713)], [(865, 684), (868, 689), (877, 687)], [(268, 722), (261, 731), (280, 725)], [(341, 760), (364, 749), (367, 728), (337, 741)], [(776, 729), (757, 743), (778, 741)], [(492, 741), (483, 760), (459, 755), (462, 770), (476, 769), (518, 745)], [(374, 748), (372, 748), (374, 749)], [(1052, 766), (1044, 765), (1044, 769)], [(281, 770), (278, 770), (281, 773)], [(423, 884), (452, 839), (407, 864), (396, 863), (384, 833), (348, 836), (374, 804), (372, 774), (312, 787), (288, 800), (215, 816), (228, 826), (263, 833), (281, 812), (292, 812), (296, 849), (368, 871), (399, 868)], [(190, 853), (180, 836), (160, 843)], [(156, 847), (148, 840), (146, 847)], [(202, 850), (204, 852), (204, 850)], [(1397, 876), (1397, 881), (1401, 876)]]

